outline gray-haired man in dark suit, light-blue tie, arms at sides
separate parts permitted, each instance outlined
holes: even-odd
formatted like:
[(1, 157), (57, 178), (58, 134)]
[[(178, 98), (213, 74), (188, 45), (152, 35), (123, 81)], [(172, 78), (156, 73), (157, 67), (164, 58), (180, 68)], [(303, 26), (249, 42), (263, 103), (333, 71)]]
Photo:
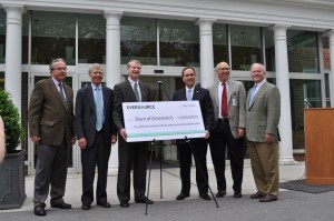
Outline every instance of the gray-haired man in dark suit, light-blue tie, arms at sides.
[(97, 204), (102, 208), (111, 207), (107, 201), (106, 188), (111, 143), (116, 142), (112, 90), (101, 84), (104, 68), (100, 64), (91, 64), (88, 72), (91, 84), (78, 90), (76, 99), (76, 129), (82, 164), (82, 210), (89, 210), (94, 201), (96, 165), (98, 167)]

